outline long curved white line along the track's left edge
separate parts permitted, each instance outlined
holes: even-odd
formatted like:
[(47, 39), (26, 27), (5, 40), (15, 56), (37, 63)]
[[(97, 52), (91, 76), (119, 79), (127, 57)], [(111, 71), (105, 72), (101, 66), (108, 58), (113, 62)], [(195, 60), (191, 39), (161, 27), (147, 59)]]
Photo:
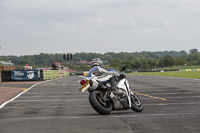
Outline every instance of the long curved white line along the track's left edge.
[(32, 89), (32, 88), (35, 87), (36, 85), (39, 85), (39, 84), (42, 84), (42, 83), (45, 83), (45, 82), (48, 82), (48, 81), (52, 81), (52, 80), (47, 80), (47, 81), (39, 82), (39, 83), (37, 83), (37, 84), (32, 85), (32, 86), (29, 87), (27, 90), (25, 90), (25, 91), (19, 93), (18, 95), (16, 95), (16, 96), (13, 97), (12, 99), (10, 99), (10, 100), (8, 100), (8, 101), (2, 103), (2, 104), (0, 105), (0, 109), (2, 109), (4, 106), (6, 106), (6, 104), (8, 104), (8, 103), (12, 102), (13, 100), (15, 100), (16, 98), (20, 97), (22, 94), (26, 93), (27, 91), (29, 91), (30, 89)]

